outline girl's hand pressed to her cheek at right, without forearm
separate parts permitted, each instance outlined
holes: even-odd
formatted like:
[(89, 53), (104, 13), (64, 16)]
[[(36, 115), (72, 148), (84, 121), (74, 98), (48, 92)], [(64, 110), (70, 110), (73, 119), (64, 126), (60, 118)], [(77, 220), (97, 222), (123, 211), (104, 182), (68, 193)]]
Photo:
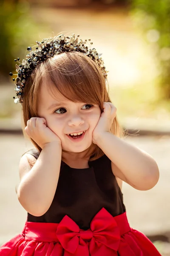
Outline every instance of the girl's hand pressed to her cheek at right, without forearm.
[(93, 143), (97, 144), (97, 139), (105, 132), (111, 131), (111, 125), (116, 116), (116, 107), (111, 102), (103, 102), (103, 112), (93, 131)]

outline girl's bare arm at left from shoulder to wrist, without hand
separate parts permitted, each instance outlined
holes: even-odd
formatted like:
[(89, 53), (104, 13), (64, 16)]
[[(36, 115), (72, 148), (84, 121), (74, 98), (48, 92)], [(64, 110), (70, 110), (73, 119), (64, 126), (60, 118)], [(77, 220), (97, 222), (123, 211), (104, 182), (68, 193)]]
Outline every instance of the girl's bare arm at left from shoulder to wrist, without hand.
[(41, 216), (49, 209), (57, 188), (61, 166), (61, 145), (47, 143), (36, 163), (31, 168), (28, 161), (33, 156), (26, 154), (20, 160), (20, 178), (17, 196), (20, 204), (34, 216)]

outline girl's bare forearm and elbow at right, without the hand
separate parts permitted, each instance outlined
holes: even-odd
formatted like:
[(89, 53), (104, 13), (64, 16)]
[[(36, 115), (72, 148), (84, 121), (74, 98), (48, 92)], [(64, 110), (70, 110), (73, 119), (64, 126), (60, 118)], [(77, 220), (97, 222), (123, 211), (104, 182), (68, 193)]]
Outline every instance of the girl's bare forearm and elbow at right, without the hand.
[(159, 169), (146, 152), (128, 144), (110, 132), (104, 132), (96, 144), (111, 160), (113, 174), (138, 190), (153, 188), (159, 180)]

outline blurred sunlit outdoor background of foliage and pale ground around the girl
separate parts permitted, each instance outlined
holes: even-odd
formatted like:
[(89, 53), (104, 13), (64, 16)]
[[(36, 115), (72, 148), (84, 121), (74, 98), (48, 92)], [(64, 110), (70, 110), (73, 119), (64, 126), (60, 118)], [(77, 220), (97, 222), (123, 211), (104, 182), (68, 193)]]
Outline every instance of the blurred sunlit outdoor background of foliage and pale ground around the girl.
[(170, 256), (170, 0), (1, 0), (0, 24), (0, 245), (26, 221), (15, 186), (20, 157), (32, 147), (8, 73), (28, 46), (63, 32), (91, 38), (102, 53), (126, 140), (158, 163), (153, 189), (124, 183), (122, 192), (130, 225)]

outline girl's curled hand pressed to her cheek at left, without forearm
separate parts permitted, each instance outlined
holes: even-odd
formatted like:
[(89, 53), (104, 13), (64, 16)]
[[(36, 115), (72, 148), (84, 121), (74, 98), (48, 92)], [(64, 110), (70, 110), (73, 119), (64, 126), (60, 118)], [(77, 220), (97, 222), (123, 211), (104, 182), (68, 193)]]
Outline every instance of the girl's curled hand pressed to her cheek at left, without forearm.
[(40, 146), (40, 148), (43, 148), (46, 143), (51, 142), (61, 144), (60, 138), (47, 127), (47, 122), (44, 118), (31, 117), (31, 119), (27, 121), (25, 131), (26, 134)]

